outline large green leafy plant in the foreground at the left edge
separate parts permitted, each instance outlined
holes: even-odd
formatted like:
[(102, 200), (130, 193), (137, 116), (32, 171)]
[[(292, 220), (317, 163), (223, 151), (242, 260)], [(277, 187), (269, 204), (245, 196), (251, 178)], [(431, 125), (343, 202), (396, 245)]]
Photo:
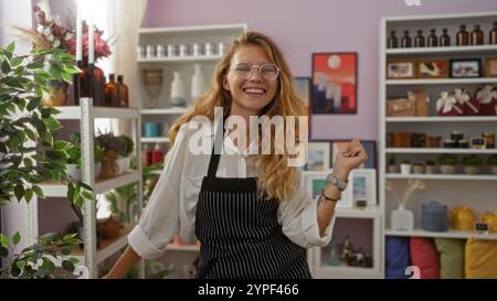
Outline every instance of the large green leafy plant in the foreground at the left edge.
[[(67, 178), (70, 143), (55, 140), (56, 131), (62, 128), (54, 117), (59, 111), (43, 106), (41, 99), (43, 93), (50, 93), (51, 80), (70, 83), (72, 74), (80, 72), (73, 66), (74, 57), (62, 50), (34, 49), (30, 55), (21, 56), (14, 50), (14, 43), (0, 49), (0, 206), (14, 200), (29, 203), (34, 195), (44, 198), (41, 182), (60, 183)], [(89, 190), (84, 183), (70, 181), (67, 198), (81, 206), (84, 200), (92, 198)], [(67, 237), (65, 240), (59, 236), (40, 237), (34, 246), (13, 254), (9, 246), (20, 240), (19, 234), (11, 238), (1, 234), (0, 255), (12, 259), (1, 278), (51, 278), (54, 262), (49, 264), (52, 259), (40, 254), (55, 255), (53, 258), (57, 260), (56, 251), (50, 248), (53, 244), (76, 243)], [(27, 258), (42, 262), (31, 265), (34, 261), (25, 261)]]

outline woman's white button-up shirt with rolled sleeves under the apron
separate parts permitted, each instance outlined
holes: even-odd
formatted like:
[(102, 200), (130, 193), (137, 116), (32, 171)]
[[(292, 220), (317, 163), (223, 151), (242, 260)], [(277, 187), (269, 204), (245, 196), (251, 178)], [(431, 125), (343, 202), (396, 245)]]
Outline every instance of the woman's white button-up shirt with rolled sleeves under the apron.
[[(209, 154), (195, 154), (189, 148), (189, 141), (195, 135), (193, 141), (200, 138), (212, 146), (214, 133), (212, 128), (198, 130), (198, 125), (192, 125), (194, 122), (182, 125), (178, 131), (149, 203), (138, 225), (128, 235), (129, 245), (142, 258), (161, 257), (175, 235), (179, 235), (186, 243), (195, 240), (197, 202), (202, 180), (208, 174), (212, 147)], [(252, 147), (254, 144), (250, 146)], [(241, 153), (229, 136), (225, 136), (218, 178), (257, 176), (254, 155)], [(290, 200), (279, 202), (277, 219), (283, 233), (295, 244), (304, 248), (324, 247), (331, 239), (335, 217), (325, 232), (319, 234), (317, 200), (309, 195), (300, 184)]]

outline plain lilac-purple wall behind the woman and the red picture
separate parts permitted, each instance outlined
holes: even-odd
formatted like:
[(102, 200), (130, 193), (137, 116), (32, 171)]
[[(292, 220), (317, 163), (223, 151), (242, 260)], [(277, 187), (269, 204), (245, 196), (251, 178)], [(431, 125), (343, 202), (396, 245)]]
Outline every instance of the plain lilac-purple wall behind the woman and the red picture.
[(295, 76), (310, 76), (313, 52), (358, 52), (358, 114), (314, 117), (313, 138), (377, 140), (381, 17), (497, 11), (496, 0), (421, 1), (148, 0), (144, 26), (247, 23), (278, 43)]

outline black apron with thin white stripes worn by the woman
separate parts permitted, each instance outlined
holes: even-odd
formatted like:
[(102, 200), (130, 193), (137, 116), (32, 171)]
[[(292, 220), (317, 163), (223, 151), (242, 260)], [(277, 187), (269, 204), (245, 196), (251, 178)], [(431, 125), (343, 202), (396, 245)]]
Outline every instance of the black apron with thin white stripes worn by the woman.
[(307, 250), (289, 240), (277, 222), (278, 201), (258, 198), (256, 178), (216, 178), (220, 157), (212, 151), (197, 205), (198, 277), (311, 278)]

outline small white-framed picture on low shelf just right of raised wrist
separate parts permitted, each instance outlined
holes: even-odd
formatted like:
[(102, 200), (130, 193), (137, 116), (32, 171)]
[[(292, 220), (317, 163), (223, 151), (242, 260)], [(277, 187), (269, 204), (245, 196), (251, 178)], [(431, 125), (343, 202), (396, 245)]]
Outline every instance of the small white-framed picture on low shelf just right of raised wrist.
[(373, 169), (353, 170), (350, 174), (352, 203), (366, 200), (368, 205), (377, 205), (377, 171)]

